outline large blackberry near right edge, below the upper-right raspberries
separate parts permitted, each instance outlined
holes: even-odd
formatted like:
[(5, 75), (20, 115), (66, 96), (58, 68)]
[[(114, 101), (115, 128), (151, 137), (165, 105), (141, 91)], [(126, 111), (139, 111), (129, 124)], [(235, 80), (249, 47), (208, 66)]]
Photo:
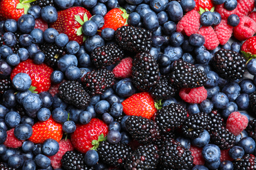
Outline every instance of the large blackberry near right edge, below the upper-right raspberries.
[(221, 49), (215, 52), (211, 61), (215, 71), (224, 79), (239, 80), (244, 76), (246, 60), (238, 52)]

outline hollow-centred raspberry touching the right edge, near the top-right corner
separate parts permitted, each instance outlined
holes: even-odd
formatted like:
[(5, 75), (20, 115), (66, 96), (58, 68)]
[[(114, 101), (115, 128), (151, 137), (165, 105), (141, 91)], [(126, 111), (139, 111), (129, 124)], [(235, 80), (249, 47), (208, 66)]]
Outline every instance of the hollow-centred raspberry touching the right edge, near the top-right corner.
[(248, 16), (240, 17), (240, 23), (234, 27), (234, 37), (240, 41), (244, 41), (253, 37), (253, 34), (256, 31), (256, 23), (253, 19)]

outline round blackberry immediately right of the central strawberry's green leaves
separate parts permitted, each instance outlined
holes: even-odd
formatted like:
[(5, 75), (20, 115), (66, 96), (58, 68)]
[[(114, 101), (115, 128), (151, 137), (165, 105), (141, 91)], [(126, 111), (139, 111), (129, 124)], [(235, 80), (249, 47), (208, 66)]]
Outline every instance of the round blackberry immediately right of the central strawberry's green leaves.
[(171, 103), (158, 110), (154, 120), (163, 133), (169, 133), (169, 131), (182, 126), (186, 114), (186, 109), (182, 105)]

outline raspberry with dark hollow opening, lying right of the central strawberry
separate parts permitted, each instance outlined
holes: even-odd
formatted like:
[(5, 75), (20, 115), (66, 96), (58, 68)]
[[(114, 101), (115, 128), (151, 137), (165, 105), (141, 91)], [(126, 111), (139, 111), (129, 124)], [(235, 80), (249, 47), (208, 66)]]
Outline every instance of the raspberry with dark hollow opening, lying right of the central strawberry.
[(203, 86), (199, 88), (182, 88), (179, 95), (187, 103), (202, 103), (207, 98), (207, 90)]

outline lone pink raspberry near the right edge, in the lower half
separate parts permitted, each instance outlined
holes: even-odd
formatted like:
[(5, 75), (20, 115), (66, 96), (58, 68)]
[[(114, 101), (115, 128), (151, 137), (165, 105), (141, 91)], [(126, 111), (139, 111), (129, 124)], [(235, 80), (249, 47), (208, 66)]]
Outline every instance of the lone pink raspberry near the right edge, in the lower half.
[(248, 119), (240, 112), (232, 112), (226, 120), (226, 129), (228, 129), (234, 135), (239, 135), (248, 124)]

